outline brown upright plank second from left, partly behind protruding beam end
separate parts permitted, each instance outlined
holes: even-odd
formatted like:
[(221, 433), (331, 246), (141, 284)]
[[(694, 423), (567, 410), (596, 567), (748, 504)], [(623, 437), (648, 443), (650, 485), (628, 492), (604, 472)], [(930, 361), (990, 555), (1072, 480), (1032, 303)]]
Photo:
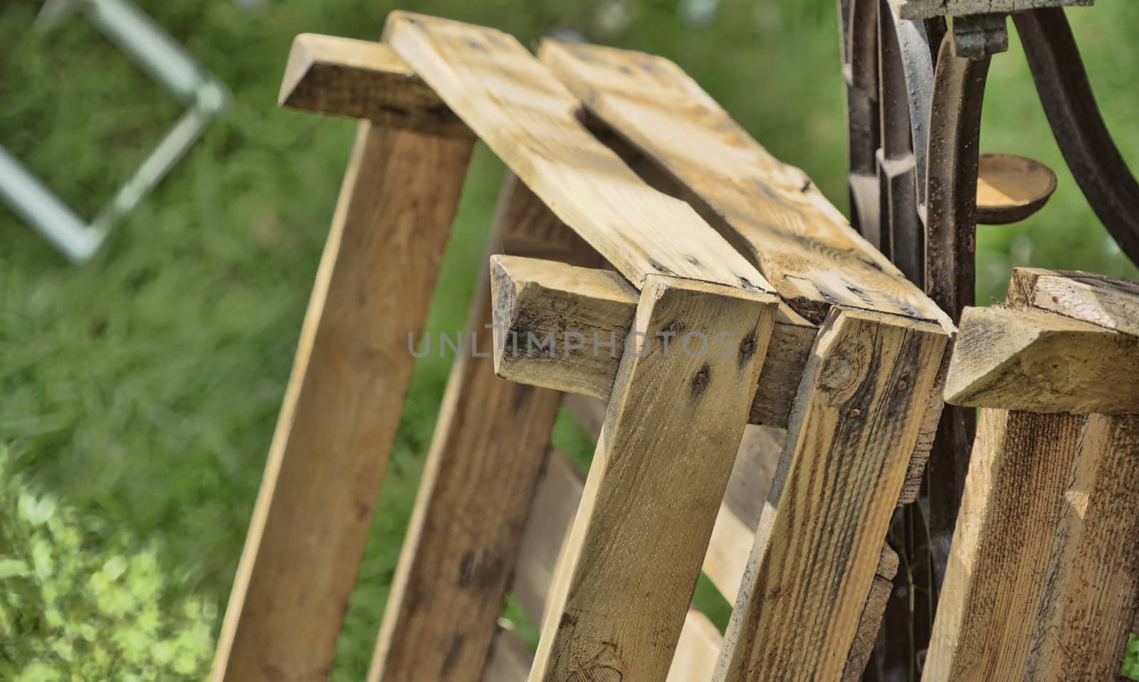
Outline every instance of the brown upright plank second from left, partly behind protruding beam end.
[[(500, 205), (533, 202), (503, 186)], [(499, 215), (528, 215), (503, 208)], [(492, 243), (506, 230), (498, 223)], [(557, 392), (494, 376), (487, 271), (456, 359), (368, 679), (482, 680), (550, 432)], [(481, 351), (478, 348), (482, 348)]]

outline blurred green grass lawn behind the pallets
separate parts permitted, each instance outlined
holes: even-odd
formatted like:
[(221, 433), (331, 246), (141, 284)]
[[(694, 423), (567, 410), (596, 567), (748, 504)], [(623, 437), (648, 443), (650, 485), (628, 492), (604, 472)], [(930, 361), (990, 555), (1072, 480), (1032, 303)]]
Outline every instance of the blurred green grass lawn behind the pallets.
[[(6, 480), (18, 476), (33, 491), (23, 498), (58, 500), (72, 510), (68, 518), (85, 537), (83, 561), (100, 552), (107, 561), (123, 552), (153, 554), (169, 580), (164, 599), (203, 605), (195, 618), (214, 632), (354, 129), (346, 120), (276, 106), (296, 33), (375, 40), (387, 11), (399, 7), (493, 25), (526, 43), (573, 30), (664, 55), (846, 207), (833, 0), (139, 5), (232, 89), (236, 107), (88, 265), (68, 265), (0, 207), (0, 445), (9, 451)], [(38, 9), (36, 0), (0, 6), (0, 145), (91, 216), (180, 107), (83, 18), (33, 31)], [(1139, 48), (1131, 40), (1139, 5), (1099, 0), (1070, 16), (1108, 124), (1124, 156), (1139, 162)], [(1031, 220), (980, 229), (982, 303), (1002, 297), (1014, 264), (1134, 273), (1064, 167), (1013, 41), (1009, 54), (993, 60), (982, 148), (1051, 165), (1059, 189)], [(481, 148), (429, 317), (433, 330), (464, 328), (501, 173)], [(367, 667), (446, 371), (448, 360), (437, 358), (417, 369), (335, 680), (359, 680)], [(582, 435), (562, 421), (558, 438), (580, 443)], [(33, 512), (25, 516), (42, 521)], [(0, 532), (0, 558), (17, 544)], [(68, 554), (72, 545), (41, 544), (57, 564), (79, 560)], [(120, 564), (114, 567), (112, 577)], [(0, 581), (8, 580), (0, 566)], [(48, 626), (24, 618), (6, 622), (0, 613), (0, 676), (27, 669), (31, 658), (58, 669), (73, 665), (36, 648), (36, 628)], [(174, 679), (153, 669), (137, 674)]]

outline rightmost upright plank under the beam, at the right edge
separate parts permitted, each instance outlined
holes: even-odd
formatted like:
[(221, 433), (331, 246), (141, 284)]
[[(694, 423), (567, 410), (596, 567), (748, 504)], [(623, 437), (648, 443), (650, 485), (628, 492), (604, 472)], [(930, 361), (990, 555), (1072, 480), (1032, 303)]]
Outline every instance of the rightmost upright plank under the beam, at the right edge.
[(1139, 416), (1092, 414), (1064, 491), (1025, 682), (1118, 674), (1139, 608), (1137, 537)]

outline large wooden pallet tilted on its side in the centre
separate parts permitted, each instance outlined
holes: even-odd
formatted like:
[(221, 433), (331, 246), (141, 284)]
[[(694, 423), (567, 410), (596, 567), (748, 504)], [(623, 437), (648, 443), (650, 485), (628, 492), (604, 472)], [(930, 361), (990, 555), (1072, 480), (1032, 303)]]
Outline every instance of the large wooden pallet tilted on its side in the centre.
[[(499, 334), (456, 362), (369, 679), (860, 676), (951, 323), (674, 64), (539, 55), (403, 13), (384, 43), (297, 38), (281, 101), (362, 122), (214, 680), (330, 669), (476, 139), (510, 174), (470, 330), (614, 353)], [(699, 335), (726, 352), (616, 340)], [(564, 394), (605, 405), (584, 480), (548, 452)], [(726, 636), (691, 608), (702, 570)], [(509, 590), (533, 655), (498, 626)]]

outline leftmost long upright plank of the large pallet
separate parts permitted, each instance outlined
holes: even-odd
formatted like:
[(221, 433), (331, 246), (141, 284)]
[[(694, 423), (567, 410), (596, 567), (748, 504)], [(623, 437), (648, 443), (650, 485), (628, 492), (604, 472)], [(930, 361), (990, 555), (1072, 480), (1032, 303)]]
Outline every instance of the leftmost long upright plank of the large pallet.
[(213, 680), (329, 669), (473, 141), (357, 135)]

